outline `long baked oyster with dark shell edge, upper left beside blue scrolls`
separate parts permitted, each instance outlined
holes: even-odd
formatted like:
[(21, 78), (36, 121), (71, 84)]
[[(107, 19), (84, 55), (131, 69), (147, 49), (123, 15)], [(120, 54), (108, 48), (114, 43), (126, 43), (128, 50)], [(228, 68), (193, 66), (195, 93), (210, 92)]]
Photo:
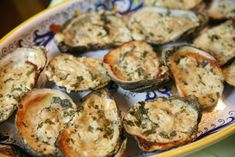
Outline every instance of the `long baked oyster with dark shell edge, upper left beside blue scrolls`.
[(78, 54), (121, 45), (130, 41), (131, 34), (118, 13), (81, 13), (64, 24), (55, 35), (62, 52)]

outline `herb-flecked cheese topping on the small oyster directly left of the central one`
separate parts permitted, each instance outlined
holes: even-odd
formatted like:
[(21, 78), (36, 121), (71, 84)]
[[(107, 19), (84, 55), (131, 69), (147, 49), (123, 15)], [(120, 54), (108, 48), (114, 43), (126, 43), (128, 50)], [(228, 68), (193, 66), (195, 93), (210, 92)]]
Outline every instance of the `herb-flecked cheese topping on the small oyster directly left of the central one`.
[(110, 80), (100, 59), (66, 54), (53, 58), (46, 74), (68, 92), (101, 88)]

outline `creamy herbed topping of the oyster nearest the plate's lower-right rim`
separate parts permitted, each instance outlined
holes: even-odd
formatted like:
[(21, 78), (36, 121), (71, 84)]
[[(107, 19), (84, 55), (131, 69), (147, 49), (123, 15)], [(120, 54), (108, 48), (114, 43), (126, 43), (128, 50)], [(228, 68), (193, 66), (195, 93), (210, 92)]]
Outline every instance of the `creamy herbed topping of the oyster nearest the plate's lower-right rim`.
[(130, 134), (149, 142), (170, 143), (191, 136), (198, 111), (180, 99), (158, 98), (134, 105), (124, 117)]

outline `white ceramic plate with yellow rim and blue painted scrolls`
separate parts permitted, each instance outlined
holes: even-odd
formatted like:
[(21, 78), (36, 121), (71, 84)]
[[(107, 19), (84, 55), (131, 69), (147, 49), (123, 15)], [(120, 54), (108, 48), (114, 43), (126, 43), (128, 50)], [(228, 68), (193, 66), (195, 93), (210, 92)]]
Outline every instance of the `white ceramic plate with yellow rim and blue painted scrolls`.
[[(109, 10), (113, 7), (116, 7), (121, 14), (126, 14), (139, 9), (142, 6), (143, 0), (66, 1), (33, 16), (3, 37), (0, 41), (0, 56), (6, 55), (17, 47), (45, 46), (48, 51), (48, 57), (50, 59), (51, 56), (59, 53), (59, 50), (57, 49), (57, 46), (53, 40), (55, 32), (58, 31), (61, 24), (63, 24), (77, 12), (99, 10), (100, 8)], [(102, 58), (106, 53), (107, 50), (102, 50), (88, 52), (84, 55), (89, 57)], [(40, 86), (40, 82), (38, 86)], [(51, 86), (47, 85), (46, 87)], [(130, 104), (134, 104), (137, 101), (151, 100), (159, 96), (168, 97), (171, 95), (169, 87), (138, 94), (125, 91), (115, 85), (110, 85), (107, 88), (114, 95), (115, 100), (117, 101), (119, 108), (122, 111), (126, 111), (130, 107)], [(72, 93), (70, 95), (73, 97), (76, 95), (76, 93)], [(80, 93), (79, 98), (81, 98), (83, 95), (84, 93)], [(76, 95), (76, 97), (78, 97), (78, 95)], [(231, 86), (226, 85), (223, 96), (219, 100), (216, 108), (214, 108), (212, 112), (203, 114), (196, 141), (185, 146), (171, 149), (169, 151), (145, 153), (138, 148), (135, 140), (130, 137), (127, 146), (127, 156), (182, 155), (196, 151), (202, 147), (206, 147), (218, 140), (221, 140), (222, 138), (225, 138), (235, 131), (234, 102), (235, 90)], [(0, 124), (0, 133), (10, 137), (8, 142), (14, 142), (17, 145), (21, 145), (14, 126), (14, 116), (12, 116), (8, 121)]]

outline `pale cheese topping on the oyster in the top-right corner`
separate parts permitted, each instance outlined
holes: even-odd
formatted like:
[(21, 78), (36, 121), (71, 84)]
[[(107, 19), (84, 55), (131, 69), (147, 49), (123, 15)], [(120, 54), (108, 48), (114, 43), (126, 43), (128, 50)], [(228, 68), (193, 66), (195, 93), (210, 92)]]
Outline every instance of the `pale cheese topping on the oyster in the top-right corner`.
[(234, 0), (213, 0), (208, 10), (213, 19), (235, 18)]

